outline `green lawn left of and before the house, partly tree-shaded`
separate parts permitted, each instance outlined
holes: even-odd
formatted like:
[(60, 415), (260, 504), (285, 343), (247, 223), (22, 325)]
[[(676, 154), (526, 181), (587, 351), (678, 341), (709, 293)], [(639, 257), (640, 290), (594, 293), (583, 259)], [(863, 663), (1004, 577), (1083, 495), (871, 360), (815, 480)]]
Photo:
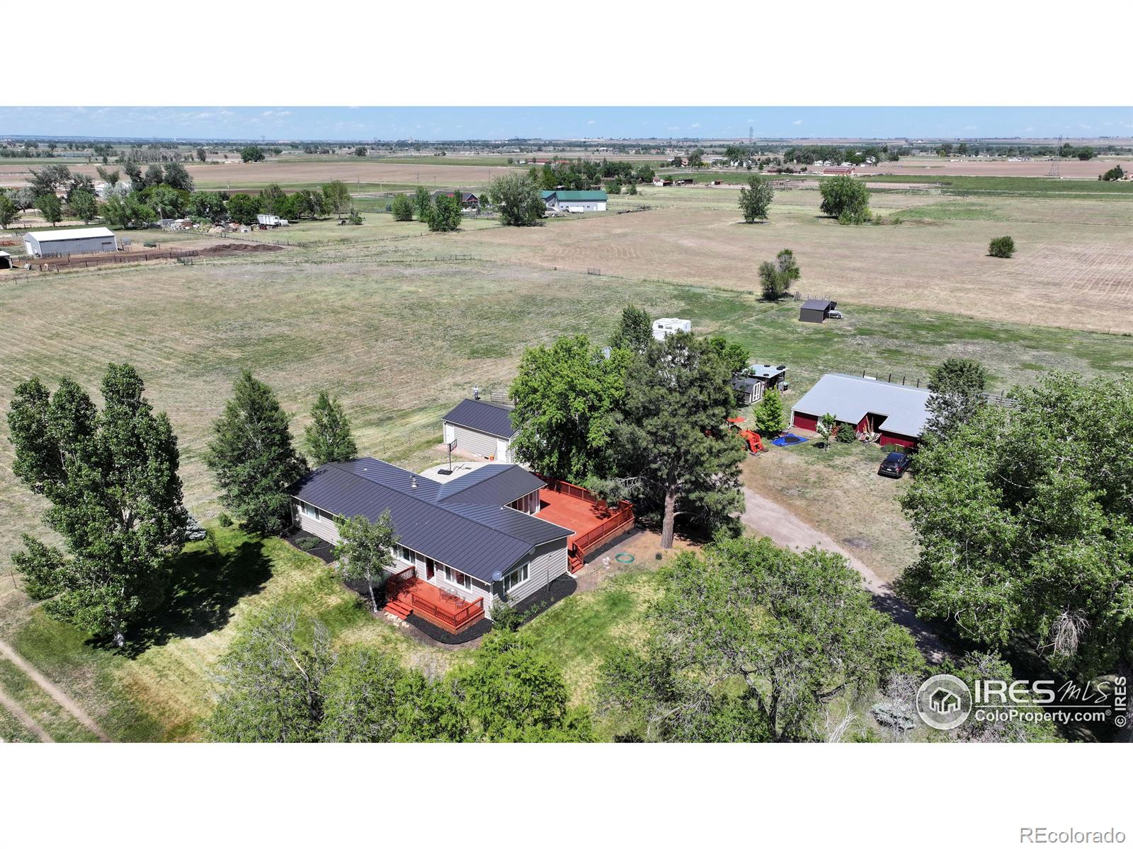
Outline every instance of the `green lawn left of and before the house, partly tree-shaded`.
[[(123, 652), (97, 645), (41, 610), (6, 638), (112, 739), (123, 741), (197, 739), (199, 720), (211, 710), (212, 666), (248, 619), (269, 607), (317, 617), (340, 643), (365, 640), (409, 663), (444, 668), (450, 662), (445, 653), (372, 617), (322, 560), (281, 539), (235, 528), (212, 526), (211, 533), (215, 551), (208, 542), (186, 547), (177, 560), (170, 612), (131, 633)], [(46, 696), (19, 675), (0, 661), (0, 684), (39, 719)], [(41, 724), (57, 739), (90, 737), (73, 721), (56, 721), (50, 713), (49, 720)]]

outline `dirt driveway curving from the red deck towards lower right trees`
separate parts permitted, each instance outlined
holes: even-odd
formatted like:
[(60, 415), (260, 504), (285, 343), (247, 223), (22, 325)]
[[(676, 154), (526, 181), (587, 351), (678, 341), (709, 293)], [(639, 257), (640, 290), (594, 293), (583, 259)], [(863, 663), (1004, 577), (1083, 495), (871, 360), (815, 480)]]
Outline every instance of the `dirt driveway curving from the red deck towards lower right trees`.
[(866, 564), (828, 535), (807, 524), (775, 501), (764, 498), (747, 487), (743, 488), (743, 498), (746, 509), (742, 518), (746, 525), (756, 533), (770, 537), (776, 543), (795, 551), (818, 546), (826, 551), (845, 557), (864, 580), (866, 589), (874, 595), (875, 607), (892, 616), (898, 625), (909, 628), (917, 640), (918, 648), (930, 661), (939, 663), (944, 660), (948, 651), (931, 627), (917, 618), (913, 609), (898, 599), (893, 592), (893, 588), (881, 581)]

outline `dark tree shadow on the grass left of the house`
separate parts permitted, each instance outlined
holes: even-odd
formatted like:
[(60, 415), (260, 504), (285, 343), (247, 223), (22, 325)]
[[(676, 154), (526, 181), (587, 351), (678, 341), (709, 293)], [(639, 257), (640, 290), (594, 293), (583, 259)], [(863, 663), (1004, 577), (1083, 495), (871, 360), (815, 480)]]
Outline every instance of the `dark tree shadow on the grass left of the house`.
[(261, 592), (272, 575), (272, 563), (258, 540), (232, 551), (208, 548), (182, 551), (161, 609), (130, 628), (121, 653), (136, 658), (176, 637), (199, 637), (224, 627), (237, 602)]

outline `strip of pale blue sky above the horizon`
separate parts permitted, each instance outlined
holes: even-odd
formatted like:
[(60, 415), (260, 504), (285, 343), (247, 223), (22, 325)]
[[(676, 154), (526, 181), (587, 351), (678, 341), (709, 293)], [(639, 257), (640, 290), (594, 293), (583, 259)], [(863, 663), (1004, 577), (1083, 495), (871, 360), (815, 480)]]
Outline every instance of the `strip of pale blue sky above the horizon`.
[(0, 137), (275, 139), (1133, 135), (1133, 106), (0, 106)]

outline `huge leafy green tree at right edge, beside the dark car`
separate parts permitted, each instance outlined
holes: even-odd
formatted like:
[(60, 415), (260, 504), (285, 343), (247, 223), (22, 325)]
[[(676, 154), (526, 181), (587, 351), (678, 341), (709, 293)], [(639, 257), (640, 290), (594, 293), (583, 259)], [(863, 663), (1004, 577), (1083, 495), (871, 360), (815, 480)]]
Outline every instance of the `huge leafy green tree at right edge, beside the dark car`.
[(902, 498), (919, 543), (903, 591), (989, 648), (1133, 675), (1133, 378), (1053, 372), (929, 441)]

